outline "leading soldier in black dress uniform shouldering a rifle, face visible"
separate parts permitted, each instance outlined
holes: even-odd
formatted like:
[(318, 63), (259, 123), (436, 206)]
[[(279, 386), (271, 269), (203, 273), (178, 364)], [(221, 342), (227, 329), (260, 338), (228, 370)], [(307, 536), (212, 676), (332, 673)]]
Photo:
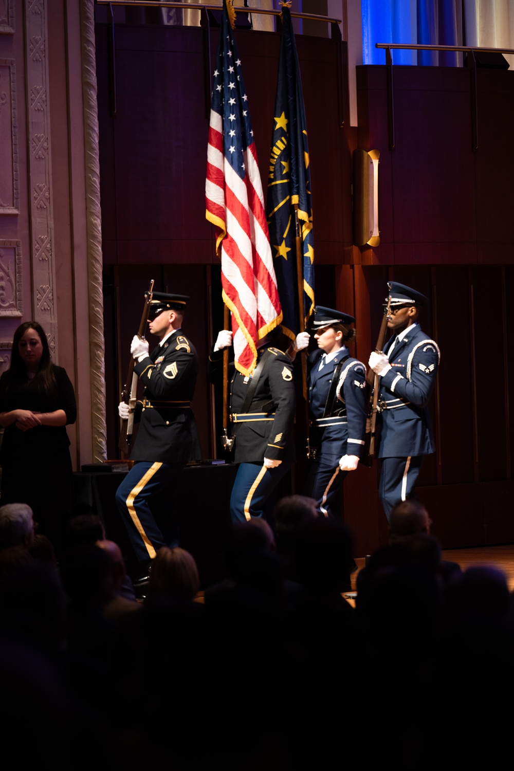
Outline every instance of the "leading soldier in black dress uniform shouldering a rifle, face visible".
[[(166, 544), (151, 510), (152, 498), (172, 487), (185, 463), (201, 457), (197, 424), (191, 411), (197, 382), (197, 352), (181, 326), (189, 297), (153, 293), (149, 331), (160, 343), (149, 355), (148, 342), (135, 335), (130, 352), (134, 372), (143, 381), (143, 401), (137, 402), (140, 420), (130, 455), (136, 463), (116, 492), (116, 503), (129, 532), (141, 572)], [(128, 417), (128, 406), (119, 404), (119, 416)], [(173, 523), (178, 544), (178, 525)]]

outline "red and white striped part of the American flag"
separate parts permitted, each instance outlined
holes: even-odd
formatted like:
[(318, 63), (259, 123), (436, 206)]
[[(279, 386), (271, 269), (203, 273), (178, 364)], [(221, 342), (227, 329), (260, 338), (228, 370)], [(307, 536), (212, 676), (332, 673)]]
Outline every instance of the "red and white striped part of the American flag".
[(232, 311), (236, 368), (250, 374), (257, 342), (282, 319), (255, 143), (244, 153), (245, 177), (223, 155), (223, 120), (211, 110), (205, 183), (206, 217), (219, 227), (223, 300)]

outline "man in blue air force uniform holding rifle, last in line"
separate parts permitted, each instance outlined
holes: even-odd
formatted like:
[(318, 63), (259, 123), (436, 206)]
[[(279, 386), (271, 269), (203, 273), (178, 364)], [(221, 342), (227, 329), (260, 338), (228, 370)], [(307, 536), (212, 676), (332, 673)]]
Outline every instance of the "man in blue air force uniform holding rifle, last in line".
[(422, 456), (435, 450), (427, 403), (441, 355), (437, 343), (417, 323), (419, 309), (427, 302), (425, 295), (395, 281), (388, 286), (392, 334), (384, 352), (371, 353), (369, 365), (380, 375), (377, 457), (382, 459), (382, 469), (378, 494), (389, 519), (396, 503), (415, 497)]

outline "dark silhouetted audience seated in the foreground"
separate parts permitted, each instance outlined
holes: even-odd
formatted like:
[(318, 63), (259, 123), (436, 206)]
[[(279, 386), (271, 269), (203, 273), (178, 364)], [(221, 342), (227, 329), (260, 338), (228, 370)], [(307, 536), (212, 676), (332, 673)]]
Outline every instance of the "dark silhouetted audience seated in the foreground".
[(275, 521), (234, 525), (225, 578), (201, 592), (193, 556), (161, 549), (138, 602), (97, 517), (70, 521), (57, 565), (29, 507), (0, 507), (9, 741), (29, 733), (33, 762), (51, 742), (58, 769), (432, 769), (507, 751), (514, 604), (500, 571), (448, 569), (428, 512), (403, 503), (352, 608), (348, 527), (301, 496)]

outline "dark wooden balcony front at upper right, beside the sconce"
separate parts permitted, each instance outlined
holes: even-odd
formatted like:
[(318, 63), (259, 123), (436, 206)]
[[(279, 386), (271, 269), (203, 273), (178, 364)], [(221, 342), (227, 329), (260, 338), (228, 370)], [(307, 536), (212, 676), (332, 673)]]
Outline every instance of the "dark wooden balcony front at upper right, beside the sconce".
[(395, 150), (388, 146), (386, 68), (358, 67), (358, 143), (380, 150), (381, 244), (368, 264), (509, 264), (514, 245), (514, 72), (479, 70), (478, 152), (468, 69), (393, 67)]

